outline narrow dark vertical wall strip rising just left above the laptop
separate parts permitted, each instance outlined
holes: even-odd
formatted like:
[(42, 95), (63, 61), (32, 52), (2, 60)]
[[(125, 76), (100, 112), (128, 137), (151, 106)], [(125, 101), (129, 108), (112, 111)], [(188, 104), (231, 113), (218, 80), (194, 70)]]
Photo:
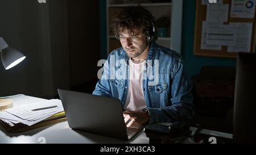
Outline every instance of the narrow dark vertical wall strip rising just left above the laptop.
[(57, 89), (70, 89), (70, 60), (68, 35), (68, 1), (49, 2), (49, 33), (51, 36), (51, 57), (53, 94)]

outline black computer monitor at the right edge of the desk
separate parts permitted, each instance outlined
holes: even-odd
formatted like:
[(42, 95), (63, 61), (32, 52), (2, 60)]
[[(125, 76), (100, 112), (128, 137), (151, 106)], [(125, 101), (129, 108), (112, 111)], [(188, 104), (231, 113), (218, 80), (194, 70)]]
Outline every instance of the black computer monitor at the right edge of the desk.
[(238, 54), (234, 100), (234, 143), (256, 143), (256, 55), (253, 53)]

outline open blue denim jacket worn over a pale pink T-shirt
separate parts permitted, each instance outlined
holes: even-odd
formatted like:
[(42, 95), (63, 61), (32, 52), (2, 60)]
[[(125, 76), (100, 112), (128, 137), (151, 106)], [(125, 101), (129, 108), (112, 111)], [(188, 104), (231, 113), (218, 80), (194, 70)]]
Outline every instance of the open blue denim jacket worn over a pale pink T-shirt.
[[(111, 52), (93, 94), (117, 98), (124, 106), (129, 89), (129, 60), (123, 48)], [(192, 85), (179, 53), (152, 42), (145, 64), (142, 87), (149, 123), (191, 119), (195, 114)]]

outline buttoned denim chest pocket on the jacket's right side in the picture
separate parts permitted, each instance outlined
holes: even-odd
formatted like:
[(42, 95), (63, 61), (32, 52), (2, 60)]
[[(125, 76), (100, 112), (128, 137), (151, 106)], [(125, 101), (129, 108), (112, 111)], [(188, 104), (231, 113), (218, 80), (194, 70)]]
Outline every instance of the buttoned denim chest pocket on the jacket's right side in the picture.
[(148, 85), (148, 91), (153, 108), (166, 107), (168, 104), (167, 82), (152, 83)]

